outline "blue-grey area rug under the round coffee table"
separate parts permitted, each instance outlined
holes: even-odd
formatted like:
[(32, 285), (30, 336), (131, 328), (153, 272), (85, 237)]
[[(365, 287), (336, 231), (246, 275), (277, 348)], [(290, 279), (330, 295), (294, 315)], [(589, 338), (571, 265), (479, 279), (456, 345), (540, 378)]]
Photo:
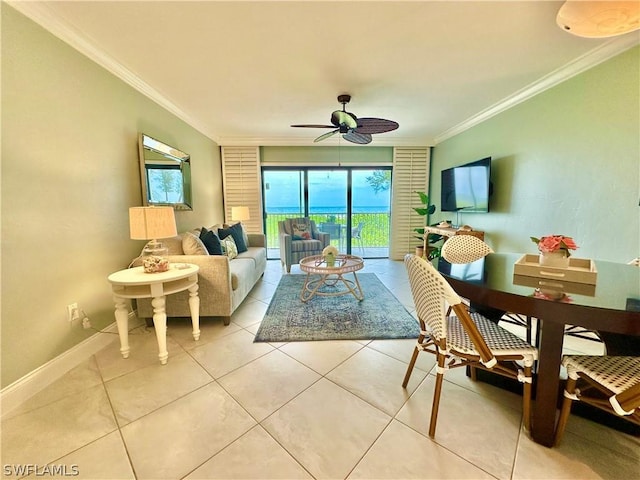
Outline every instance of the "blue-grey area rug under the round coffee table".
[[(284, 275), (254, 342), (418, 338), (418, 321), (374, 273), (358, 274), (364, 300), (353, 295), (300, 300), (306, 275)], [(345, 275), (353, 279), (352, 274)], [(324, 286), (320, 291), (344, 289)]]

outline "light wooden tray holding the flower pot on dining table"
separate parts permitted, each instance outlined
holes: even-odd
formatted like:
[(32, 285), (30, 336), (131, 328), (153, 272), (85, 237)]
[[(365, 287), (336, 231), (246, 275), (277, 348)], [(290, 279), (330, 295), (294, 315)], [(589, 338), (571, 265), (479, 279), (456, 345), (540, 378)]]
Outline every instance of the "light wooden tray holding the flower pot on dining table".
[(595, 285), (598, 276), (596, 264), (588, 258), (569, 257), (567, 268), (547, 267), (538, 263), (538, 255), (524, 254), (513, 267), (514, 275), (545, 278), (572, 283)]

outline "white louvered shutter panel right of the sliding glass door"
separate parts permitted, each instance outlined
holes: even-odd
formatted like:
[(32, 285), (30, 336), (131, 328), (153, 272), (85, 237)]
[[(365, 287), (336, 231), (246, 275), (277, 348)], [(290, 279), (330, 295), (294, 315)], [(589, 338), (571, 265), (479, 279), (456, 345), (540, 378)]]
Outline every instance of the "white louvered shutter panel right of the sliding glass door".
[(413, 207), (421, 207), (416, 191), (429, 190), (429, 147), (393, 149), (393, 181), (391, 186), (391, 239), (389, 258), (402, 260), (415, 247), (422, 245), (415, 238), (414, 228), (424, 227), (425, 217), (418, 215)]

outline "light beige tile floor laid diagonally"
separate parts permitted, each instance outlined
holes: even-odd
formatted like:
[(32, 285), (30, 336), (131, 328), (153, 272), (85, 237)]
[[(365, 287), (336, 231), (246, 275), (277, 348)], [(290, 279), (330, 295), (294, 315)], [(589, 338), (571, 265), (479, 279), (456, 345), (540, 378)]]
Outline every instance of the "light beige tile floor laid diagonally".
[[(364, 271), (414, 312), (402, 262)], [(231, 325), (203, 319), (197, 342), (188, 321), (171, 320), (167, 365), (153, 329), (131, 332), (127, 360), (114, 335), (4, 416), (3, 476), (53, 464), (91, 479), (640, 478), (640, 439), (572, 416), (562, 445), (542, 447), (521, 427), (518, 395), (460, 369), (445, 377), (430, 439), (432, 356), (401, 387), (414, 340), (253, 343), (281, 275), (269, 262)]]

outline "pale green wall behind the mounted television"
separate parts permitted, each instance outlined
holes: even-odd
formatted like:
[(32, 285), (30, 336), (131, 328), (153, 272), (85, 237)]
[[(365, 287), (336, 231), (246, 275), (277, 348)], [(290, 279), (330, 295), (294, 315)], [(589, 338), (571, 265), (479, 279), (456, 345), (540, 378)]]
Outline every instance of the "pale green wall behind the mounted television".
[(536, 253), (530, 236), (573, 236), (578, 257), (640, 255), (640, 47), (610, 59), (433, 149), (431, 222), (441, 170), (491, 156), (488, 214), (460, 215), (496, 251)]

